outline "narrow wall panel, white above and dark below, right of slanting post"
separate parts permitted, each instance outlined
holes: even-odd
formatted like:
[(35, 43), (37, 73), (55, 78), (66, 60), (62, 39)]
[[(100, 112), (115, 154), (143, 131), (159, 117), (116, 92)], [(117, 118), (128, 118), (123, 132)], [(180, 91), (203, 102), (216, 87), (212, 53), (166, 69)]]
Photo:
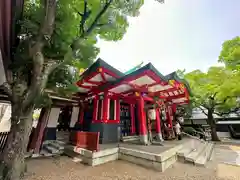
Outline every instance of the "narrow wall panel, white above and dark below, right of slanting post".
[(56, 140), (57, 138), (56, 130), (57, 130), (59, 113), (60, 113), (60, 108), (51, 108), (51, 111), (48, 117), (48, 124), (45, 129), (44, 140)]

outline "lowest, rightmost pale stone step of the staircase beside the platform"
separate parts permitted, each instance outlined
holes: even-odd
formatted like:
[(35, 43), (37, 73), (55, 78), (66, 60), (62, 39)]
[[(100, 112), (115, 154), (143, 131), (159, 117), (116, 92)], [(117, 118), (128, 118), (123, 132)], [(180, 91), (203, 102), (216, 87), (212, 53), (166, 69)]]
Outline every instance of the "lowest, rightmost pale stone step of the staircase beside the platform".
[(213, 144), (207, 143), (207, 147), (200, 153), (196, 161), (194, 162), (195, 165), (198, 166), (205, 166), (207, 161), (209, 161), (212, 150), (213, 150)]

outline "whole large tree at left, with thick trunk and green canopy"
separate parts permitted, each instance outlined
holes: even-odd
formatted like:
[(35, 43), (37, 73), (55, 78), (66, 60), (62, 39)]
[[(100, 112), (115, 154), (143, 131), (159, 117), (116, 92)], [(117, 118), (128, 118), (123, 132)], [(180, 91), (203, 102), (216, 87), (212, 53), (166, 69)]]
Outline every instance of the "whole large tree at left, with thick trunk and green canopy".
[(12, 118), (0, 179), (18, 180), (23, 172), (36, 102), (48, 80), (58, 85), (51, 75), (58, 74), (61, 81), (67, 65), (87, 66), (99, 52), (97, 39), (120, 40), (127, 16), (138, 15), (142, 4), (143, 0), (25, 1), (19, 44), (9, 67), (12, 79), (1, 86), (12, 103)]

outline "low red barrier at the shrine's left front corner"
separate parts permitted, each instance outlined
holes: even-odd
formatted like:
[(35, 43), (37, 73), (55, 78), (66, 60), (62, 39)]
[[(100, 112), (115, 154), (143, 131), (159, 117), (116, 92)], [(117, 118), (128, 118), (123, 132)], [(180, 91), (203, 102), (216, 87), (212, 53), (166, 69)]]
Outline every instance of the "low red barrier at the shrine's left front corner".
[(70, 135), (70, 143), (90, 151), (99, 151), (99, 132), (73, 131)]

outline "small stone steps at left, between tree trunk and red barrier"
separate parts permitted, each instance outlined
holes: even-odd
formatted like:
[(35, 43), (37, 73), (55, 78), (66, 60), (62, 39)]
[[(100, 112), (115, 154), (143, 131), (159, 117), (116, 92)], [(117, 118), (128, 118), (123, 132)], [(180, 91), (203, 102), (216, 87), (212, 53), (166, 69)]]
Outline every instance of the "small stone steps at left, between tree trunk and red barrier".
[(64, 152), (65, 143), (58, 140), (44, 141), (40, 154), (45, 156), (61, 155)]

